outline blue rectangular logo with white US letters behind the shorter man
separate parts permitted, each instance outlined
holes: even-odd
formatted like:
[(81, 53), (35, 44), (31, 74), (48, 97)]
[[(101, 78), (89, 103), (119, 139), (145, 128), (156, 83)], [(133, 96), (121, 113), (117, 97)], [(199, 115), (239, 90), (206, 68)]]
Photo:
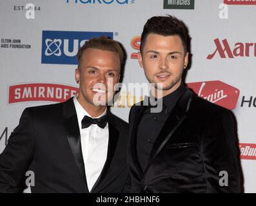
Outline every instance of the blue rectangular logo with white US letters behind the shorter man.
[(93, 37), (113, 39), (113, 32), (43, 31), (42, 64), (77, 64), (77, 52)]

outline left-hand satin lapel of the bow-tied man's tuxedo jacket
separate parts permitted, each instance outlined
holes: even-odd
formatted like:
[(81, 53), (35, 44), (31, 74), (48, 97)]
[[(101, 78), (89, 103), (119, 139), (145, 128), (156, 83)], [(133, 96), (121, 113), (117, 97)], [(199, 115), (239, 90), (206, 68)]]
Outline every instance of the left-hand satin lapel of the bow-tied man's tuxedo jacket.
[(81, 176), (88, 191), (86, 176), (84, 171), (83, 153), (81, 147), (81, 136), (79, 131), (79, 124), (77, 122), (77, 115), (73, 98), (63, 103), (63, 125), (66, 130), (66, 136), (74, 156), (75, 163), (81, 173)]

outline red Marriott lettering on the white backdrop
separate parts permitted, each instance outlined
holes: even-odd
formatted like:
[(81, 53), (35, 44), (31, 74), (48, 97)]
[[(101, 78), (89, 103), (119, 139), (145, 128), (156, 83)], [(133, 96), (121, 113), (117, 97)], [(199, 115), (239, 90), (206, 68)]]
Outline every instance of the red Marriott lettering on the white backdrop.
[(230, 58), (233, 59), (235, 57), (250, 57), (250, 55), (254, 55), (256, 57), (256, 43), (252, 42), (237, 42), (234, 46), (230, 46), (227, 39), (219, 41), (219, 39), (214, 39), (215, 42), (215, 50), (213, 53), (208, 55), (207, 59), (213, 59), (213, 57), (219, 53), (222, 59)]

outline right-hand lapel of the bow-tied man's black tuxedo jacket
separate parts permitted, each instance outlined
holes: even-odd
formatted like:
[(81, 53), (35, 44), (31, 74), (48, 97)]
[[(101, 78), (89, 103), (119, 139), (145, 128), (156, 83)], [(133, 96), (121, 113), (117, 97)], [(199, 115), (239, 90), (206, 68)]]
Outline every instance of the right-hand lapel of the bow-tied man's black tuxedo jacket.
[(97, 181), (95, 182), (94, 187), (92, 187), (91, 192), (95, 192), (97, 190), (97, 187), (101, 184), (101, 182), (103, 182), (104, 177), (106, 176), (106, 173), (112, 162), (113, 155), (115, 154), (115, 149), (117, 147), (117, 142), (119, 138), (119, 131), (116, 129), (113, 115), (112, 113), (110, 113), (110, 111), (107, 111), (107, 112), (108, 112), (108, 153), (106, 156), (106, 162), (103, 166), (103, 170), (101, 171), (99, 178), (97, 178)]

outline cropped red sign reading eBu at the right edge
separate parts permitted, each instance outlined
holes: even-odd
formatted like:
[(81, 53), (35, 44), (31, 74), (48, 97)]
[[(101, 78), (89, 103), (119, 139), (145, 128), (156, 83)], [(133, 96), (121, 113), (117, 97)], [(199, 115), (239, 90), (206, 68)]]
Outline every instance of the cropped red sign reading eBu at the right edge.
[(240, 158), (244, 160), (256, 160), (256, 144), (240, 143)]

